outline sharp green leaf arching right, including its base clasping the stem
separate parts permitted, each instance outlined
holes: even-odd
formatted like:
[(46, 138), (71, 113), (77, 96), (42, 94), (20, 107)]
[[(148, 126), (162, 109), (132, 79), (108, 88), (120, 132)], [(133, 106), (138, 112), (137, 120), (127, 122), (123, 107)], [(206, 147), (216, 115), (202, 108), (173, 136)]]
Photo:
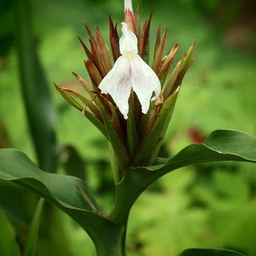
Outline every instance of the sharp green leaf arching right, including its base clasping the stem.
[(236, 130), (216, 130), (202, 144), (189, 145), (174, 157), (161, 159), (161, 164), (126, 169), (125, 177), (116, 187), (111, 218), (122, 223), (139, 195), (166, 173), (195, 163), (217, 161), (256, 162), (255, 139)]

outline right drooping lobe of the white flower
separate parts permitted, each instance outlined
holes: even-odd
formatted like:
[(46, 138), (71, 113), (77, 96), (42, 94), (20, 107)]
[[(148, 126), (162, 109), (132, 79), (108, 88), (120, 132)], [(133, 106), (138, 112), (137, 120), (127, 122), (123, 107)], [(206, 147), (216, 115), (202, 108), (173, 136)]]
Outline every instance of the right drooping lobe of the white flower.
[(150, 66), (139, 56), (130, 59), (132, 71), (132, 87), (142, 105), (142, 113), (147, 114), (152, 93), (157, 99), (160, 95), (161, 85), (157, 75)]

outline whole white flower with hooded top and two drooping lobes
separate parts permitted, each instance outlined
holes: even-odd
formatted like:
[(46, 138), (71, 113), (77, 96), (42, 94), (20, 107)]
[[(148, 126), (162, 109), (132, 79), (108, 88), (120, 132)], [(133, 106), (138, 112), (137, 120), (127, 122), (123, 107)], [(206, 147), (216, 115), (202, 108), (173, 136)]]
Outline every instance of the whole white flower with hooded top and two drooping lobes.
[[(161, 86), (157, 75), (138, 54), (138, 39), (122, 23), (123, 35), (120, 38), (120, 56), (113, 69), (99, 84), (102, 93), (109, 93), (115, 104), (127, 119), (129, 111), (129, 97), (131, 89), (138, 96), (142, 105), (142, 113), (147, 114), (151, 100), (156, 100), (160, 95)], [(151, 99), (152, 93), (154, 98)]]

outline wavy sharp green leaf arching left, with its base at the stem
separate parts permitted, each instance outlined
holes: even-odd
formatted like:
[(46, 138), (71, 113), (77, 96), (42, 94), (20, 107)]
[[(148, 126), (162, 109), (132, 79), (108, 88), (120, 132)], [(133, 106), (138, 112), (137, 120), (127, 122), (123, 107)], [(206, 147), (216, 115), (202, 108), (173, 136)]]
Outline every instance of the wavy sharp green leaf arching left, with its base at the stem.
[(99, 255), (120, 251), (123, 227), (105, 218), (80, 179), (43, 172), (26, 154), (13, 149), (0, 150), (0, 178), (28, 188), (70, 215), (93, 239)]

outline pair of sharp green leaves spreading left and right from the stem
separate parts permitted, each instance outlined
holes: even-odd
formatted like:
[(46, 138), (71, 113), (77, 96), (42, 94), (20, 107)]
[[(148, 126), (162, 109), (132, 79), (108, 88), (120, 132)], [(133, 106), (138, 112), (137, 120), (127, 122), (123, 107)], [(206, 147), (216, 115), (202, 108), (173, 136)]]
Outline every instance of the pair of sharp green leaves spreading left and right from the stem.
[[(187, 146), (175, 157), (160, 160), (158, 165), (126, 169), (123, 180), (116, 187), (114, 209), (108, 215), (102, 212), (81, 180), (43, 172), (20, 151), (0, 151), (0, 178), (32, 190), (70, 215), (93, 239), (97, 254), (122, 255), (123, 240), (120, 238), (123, 237), (130, 209), (148, 185), (172, 170), (193, 163), (224, 160), (256, 162), (255, 151), (256, 140), (248, 134), (219, 130), (203, 144)], [(35, 218), (35, 224), (37, 221)]]

